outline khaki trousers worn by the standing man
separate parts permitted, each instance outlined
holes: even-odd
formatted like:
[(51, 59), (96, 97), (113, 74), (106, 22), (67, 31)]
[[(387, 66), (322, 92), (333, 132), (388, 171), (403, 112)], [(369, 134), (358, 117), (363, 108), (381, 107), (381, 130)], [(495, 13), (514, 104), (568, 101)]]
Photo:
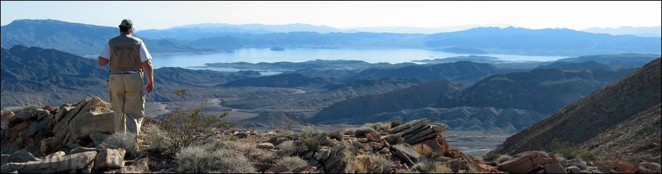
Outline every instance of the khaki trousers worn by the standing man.
[(138, 134), (145, 117), (142, 74), (111, 74), (108, 81), (110, 103), (115, 115), (115, 133)]

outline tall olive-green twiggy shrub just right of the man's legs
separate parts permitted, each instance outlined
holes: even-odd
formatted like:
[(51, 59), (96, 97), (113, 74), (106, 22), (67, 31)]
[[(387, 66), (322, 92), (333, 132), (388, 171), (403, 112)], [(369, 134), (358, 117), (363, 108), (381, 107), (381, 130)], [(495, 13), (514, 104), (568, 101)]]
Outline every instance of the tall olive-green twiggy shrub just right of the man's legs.
[(206, 116), (203, 112), (206, 102), (199, 104), (198, 109), (184, 109), (183, 97), (188, 95), (185, 89), (175, 90), (175, 95), (179, 99), (178, 107), (167, 113), (161, 127), (171, 140), (169, 148), (164, 150), (167, 157), (174, 157), (182, 148), (190, 145), (208, 144), (213, 141), (211, 138), (216, 135), (217, 129), (229, 129), (237, 125), (236, 122), (219, 121), (228, 116), (227, 112)]

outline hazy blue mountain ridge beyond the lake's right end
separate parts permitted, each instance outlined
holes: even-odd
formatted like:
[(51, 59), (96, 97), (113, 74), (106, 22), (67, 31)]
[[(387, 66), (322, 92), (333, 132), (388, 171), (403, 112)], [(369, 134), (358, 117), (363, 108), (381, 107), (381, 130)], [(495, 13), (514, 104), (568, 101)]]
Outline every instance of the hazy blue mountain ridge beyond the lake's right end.
[(489, 53), (582, 56), (638, 52), (660, 54), (660, 38), (586, 33), (571, 29), (478, 27), (436, 33), (426, 38), (428, 47), (470, 47)]

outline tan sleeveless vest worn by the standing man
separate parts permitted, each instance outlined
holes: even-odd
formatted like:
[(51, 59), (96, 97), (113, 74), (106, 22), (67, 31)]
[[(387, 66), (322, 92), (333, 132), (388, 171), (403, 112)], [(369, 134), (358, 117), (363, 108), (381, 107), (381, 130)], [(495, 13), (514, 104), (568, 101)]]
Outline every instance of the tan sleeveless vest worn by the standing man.
[(143, 41), (131, 35), (119, 35), (108, 41), (110, 45), (110, 73), (141, 72), (140, 45)]

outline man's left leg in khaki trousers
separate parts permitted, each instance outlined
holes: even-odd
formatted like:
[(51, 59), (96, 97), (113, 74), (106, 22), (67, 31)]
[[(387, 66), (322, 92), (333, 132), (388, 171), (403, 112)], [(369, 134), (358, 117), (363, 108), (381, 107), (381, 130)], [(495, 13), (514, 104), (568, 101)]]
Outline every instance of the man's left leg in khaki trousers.
[(125, 114), (124, 114), (124, 78), (121, 74), (110, 75), (108, 80), (108, 88), (110, 95), (110, 104), (112, 106), (115, 124), (115, 133), (124, 134), (126, 131)]

